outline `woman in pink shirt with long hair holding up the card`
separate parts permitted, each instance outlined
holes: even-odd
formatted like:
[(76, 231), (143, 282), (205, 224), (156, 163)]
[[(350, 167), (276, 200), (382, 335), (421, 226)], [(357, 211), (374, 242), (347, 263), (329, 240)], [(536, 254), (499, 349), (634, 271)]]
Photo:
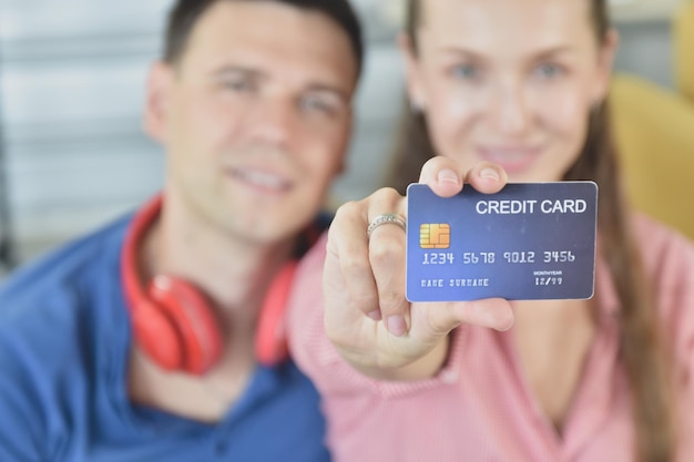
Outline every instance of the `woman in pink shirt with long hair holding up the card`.
[[(300, 308), (293, 319), (336, 459), (694, 460), (690, 412), (674, 412), (694, 409), (694, 250), (625, 205), (605, 1), (410, 0), (407, 25), (412, 114), (391, 184), (402, 193), (420, 170), (439, 195), (466, 172), (486, 193), (507, 175), (595, 181), (596, 291), (410, 305), (402, 230), (365, 233), (381, 214), (406, 217), (404, 198), (382, 189), (345, 205), (327, 243), (325, 320)], [(304, 274), (322, 263), (310, 256)]]

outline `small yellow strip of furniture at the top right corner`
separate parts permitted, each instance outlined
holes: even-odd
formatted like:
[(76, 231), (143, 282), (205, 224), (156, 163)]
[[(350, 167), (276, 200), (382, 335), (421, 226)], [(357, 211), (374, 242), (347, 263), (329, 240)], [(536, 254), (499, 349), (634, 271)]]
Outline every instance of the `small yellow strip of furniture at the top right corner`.
[(675, 81), (680, 91), (694, 102), (694, 0), (682, 3), (672, 25)]

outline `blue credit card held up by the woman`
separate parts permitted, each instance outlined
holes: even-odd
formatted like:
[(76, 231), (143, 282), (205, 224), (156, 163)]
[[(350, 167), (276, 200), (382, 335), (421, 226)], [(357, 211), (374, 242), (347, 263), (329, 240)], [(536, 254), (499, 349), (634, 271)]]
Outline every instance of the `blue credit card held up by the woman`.
[(598, 185), (466, 186), (442, 198), (407, 189), (409, 301), (586, 299), (595, 280)]

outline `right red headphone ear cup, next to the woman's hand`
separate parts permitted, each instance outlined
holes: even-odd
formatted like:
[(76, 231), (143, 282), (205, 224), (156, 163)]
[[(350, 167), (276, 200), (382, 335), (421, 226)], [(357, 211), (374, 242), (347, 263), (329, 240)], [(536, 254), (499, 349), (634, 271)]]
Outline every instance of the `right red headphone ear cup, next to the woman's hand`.
[(255, 356), (264, 366), (275, 366), (288, 358), (285, 311), (297, 261), (289, 261), (275, 276), (261, 309), (255, 335)]

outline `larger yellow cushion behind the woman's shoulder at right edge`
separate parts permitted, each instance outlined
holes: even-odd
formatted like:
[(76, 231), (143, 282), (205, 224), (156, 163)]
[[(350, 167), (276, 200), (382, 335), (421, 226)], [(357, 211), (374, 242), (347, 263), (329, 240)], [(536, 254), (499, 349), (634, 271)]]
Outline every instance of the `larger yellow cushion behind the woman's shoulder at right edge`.
[(632, 203), (694, 239), (694, 102), (619, 74), (610, 103)]

